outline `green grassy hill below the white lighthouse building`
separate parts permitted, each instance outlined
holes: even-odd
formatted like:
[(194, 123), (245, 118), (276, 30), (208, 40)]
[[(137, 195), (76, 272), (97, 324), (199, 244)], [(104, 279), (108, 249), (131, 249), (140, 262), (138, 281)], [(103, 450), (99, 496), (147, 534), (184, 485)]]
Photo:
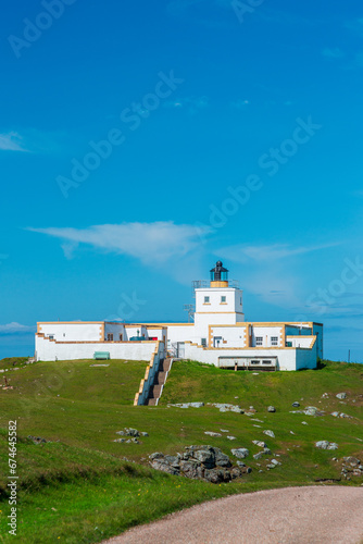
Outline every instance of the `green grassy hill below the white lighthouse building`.
[[(218, 370), (196, 362), (174, 362), (160, 406), (134, 407), (133, 399), (146, 362), (93, 361), (37, 362), (7, 375), (12, 390), (0, 390), (0, 542), (11, 542), (7, 516), (7, 429), (17, 421), (18, 542), (91, 543), (137, 523), (161, 517), (201, 500), (261, 489), (339, 480), (341, 459), (363, 460), (363, 367), (325, 361), (320, 370), (259, 373)], [(13, 361), (0, 361), (0, 370)], [(347, 393), (339, 400), (336, 394)], [(328, 393), (328, 398), (322, 398)], [(252, 417), (220, 412), (212, 406), (182, 409), (168, 403), (238, 404)], [(290, 413), (291, 404), (315, 406), (322, 417)], [(274, 405), (275, 413), (267, 412)], [(343, 411), (350, 419), (334, 418)], [(255, 420), (260, 421), (255, 421)], [(303, 424), (302, 422), (308, 424)], [(133, 426), (147, 431), (140, 444), (120, 444), (116, 431)], [(229, 431), (210, 437), (204, 431)], [(275, 438), (263, 434), (272, 430)], [(292, 434), (293, 433), (293, 434)], [(27, 436), (46, 438), (35, 444)], [(253, 459), (265, 440), (281, 465), (266, 469)], [(320, 450), (318, 440), (337, 442), (338, 450)], [(211, 444), (230, 455), (231, 447), (247, 447), (252, 473), (228, 484), (213, 485), (155, 472), (147, 456), (175, 454), (186, 445)], [(125, 461), (127, 457), (130, 461)], [(333, 458), (337, 457), (338, 461)], [(362, 479), (341, 481), (360, 485)], [(39, 530), (41, 526), (41, 531)]]

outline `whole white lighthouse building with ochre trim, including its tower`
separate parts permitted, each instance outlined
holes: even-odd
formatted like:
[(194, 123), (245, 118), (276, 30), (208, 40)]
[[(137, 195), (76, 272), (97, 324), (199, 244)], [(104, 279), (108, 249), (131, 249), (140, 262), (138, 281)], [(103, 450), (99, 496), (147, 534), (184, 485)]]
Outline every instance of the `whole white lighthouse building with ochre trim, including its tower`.
[(323, 358), (321, 323), (245, 321), (242, 290), (228, 282), (218, 261), (209, 287), (196, 288), (193, 323), (40, 322), (37, 360), (73, 360), (107, 353), (110, 358), (149, 360), (166, 351), (221, 368), (298, 370)]

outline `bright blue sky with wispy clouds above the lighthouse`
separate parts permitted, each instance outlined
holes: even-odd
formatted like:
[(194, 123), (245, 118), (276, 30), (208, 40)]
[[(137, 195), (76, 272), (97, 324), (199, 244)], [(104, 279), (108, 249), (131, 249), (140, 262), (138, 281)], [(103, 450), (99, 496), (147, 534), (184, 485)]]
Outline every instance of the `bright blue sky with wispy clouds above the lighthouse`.
[(247, 320), (363, 361), (356, 1), (14, 0), (0, 28), (0, 357), (36, 321), (184, 321), (222, 259)]

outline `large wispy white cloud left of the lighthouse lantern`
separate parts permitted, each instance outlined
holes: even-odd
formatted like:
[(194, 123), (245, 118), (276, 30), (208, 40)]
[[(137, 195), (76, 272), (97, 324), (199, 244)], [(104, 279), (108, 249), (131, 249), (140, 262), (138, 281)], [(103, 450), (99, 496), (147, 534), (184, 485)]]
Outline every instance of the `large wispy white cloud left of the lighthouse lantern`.
[(67, 257), (71, 257), (77, 244), (87, 244), (95, 248), (135, 257), (147, 264), (160, 264), (189, 254), (202, 243), (202, 236), (210, 232), (209, 227), (176, 225), (172, 221), (105, 224), (87, 228), (28, 230), (60, 238)]

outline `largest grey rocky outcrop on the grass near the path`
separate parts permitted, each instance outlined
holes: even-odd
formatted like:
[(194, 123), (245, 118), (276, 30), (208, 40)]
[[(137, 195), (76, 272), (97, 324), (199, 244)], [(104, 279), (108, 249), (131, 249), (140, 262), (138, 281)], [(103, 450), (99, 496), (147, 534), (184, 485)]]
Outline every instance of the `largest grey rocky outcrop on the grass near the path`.
[(185, 449), (186, 452), (176, 456), (164, 455), (160, 452), (151, 454), (150, 465), (153, 469), (168, 474), (184, 475), (211, 483), (229, 482), (252, 471), (243, 463), (233, 467), (229, 457), (217, 447), (202, 445), (186, 446)]

